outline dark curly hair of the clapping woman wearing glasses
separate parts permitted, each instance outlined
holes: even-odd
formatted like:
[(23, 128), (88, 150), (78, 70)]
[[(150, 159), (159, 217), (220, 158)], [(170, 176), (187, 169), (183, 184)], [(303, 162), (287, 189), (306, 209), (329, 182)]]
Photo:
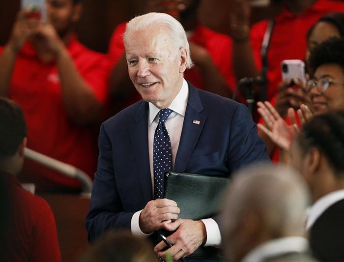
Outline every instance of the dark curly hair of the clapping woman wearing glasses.
[(309, 58), (313, 75), (322, 64), (338, 64), (344, 70), (344, 38), (331, 37), (314, 48)]

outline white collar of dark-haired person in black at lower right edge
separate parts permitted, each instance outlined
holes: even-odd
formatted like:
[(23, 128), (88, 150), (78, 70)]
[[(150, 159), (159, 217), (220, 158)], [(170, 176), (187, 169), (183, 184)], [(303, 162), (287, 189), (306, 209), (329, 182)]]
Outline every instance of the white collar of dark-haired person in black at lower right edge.
[(320, 199), (318, 199), (309, 210), (306, 229), (309, 230), (316, 219), (332, 204), (344, 199), (344, 189), (331, 192)]

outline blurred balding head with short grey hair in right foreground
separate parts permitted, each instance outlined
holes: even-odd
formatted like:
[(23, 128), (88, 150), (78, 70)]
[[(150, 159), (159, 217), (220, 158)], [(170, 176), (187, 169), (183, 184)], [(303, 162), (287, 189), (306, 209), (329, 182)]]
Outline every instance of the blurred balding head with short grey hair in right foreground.
[(308, 249), (302, 236), (309, 192), (300, 175), (287, 167), (255, 166), (233, 177), (223, 209), (229, 261), (241, 261), (264, 243), (290, 236), (297, 238), (301, 249)]

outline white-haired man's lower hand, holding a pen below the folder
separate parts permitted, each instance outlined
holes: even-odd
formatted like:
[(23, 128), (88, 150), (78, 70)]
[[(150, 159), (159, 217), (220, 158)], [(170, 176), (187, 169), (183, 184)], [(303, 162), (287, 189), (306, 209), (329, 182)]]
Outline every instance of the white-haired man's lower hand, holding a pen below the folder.
[(171, 248), (161, 251), (167, 247), (164, 241), (154, 247), (154, 252), (159, 257), (165, 258), (170, 253), (174, 260), (178, 260), (194, 253), (196, 249), (206, 242), (206, 230), (202, 221), (177, 219), (172, 223), (165, 224), (164, 228), (168, 231), (176, 229), (177, 231), (167, 237), (173, 245)]

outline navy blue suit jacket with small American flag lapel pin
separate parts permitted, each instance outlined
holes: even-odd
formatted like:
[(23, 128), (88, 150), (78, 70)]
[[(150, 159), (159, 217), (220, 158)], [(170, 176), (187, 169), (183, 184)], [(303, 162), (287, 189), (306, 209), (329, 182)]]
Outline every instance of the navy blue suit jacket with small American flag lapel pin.
[[(174, 171), (228, 177), (261, 160), (270, 161), (246, 106), (189, 83)], [(100, 128), (98, 168), (86, 217), (88, 240), (93, 242), (108, 229), (129, 229), (133, 214), (152, 196), (148, 103), (142, 100)]]

